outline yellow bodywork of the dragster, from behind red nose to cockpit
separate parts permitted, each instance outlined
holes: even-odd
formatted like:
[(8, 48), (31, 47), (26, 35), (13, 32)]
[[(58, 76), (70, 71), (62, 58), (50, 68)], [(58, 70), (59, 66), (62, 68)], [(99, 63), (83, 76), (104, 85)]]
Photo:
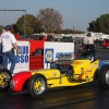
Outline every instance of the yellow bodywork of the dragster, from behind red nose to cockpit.
[(74, 60), (72, 66), (74, 70), (74, 81), (70, 81), (66, 74), (62, 74), (57, 69), (37, 70), (32, 73), (33, 75), (36, 73), (45, 75), (48, 87), (75, 86), (93, 81), (94, 74), (98, 69), (98, 60), (94, 62), (90, 62), (90, 60)]

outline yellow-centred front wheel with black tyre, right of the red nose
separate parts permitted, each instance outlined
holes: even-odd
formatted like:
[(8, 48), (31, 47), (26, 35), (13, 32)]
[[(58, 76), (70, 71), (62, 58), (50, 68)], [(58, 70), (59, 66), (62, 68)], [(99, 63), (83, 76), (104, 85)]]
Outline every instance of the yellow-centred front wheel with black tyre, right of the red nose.
[(28, 93), (34, 97), (37, 98), (38, 96), (43, 95), (47, 88), (47, 81), (44, 75), (35, 74), (33, 75), (27, 84)]

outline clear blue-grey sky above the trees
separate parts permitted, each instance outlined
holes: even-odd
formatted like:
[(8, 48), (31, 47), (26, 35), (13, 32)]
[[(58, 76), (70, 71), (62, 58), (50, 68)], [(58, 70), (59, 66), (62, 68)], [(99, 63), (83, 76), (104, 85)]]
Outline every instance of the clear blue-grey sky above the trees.
[[(26, 10), (35, 16), (46, 8), (62, 15), (63, 29), (87, 32), (88, 23), (109, 13), (109, 0), (0, 0), (0, 10)], [(14, 24), (23, 14), (23, 11), (0, 11), (0, 25)]]

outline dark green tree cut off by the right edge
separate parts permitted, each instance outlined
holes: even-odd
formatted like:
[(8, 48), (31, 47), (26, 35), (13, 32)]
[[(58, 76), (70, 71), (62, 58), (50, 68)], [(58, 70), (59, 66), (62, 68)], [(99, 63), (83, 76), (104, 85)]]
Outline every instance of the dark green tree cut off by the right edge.
[(87, 29), (109, 34), (109, 14), (102, 14), (96, 21), (90, 22)]

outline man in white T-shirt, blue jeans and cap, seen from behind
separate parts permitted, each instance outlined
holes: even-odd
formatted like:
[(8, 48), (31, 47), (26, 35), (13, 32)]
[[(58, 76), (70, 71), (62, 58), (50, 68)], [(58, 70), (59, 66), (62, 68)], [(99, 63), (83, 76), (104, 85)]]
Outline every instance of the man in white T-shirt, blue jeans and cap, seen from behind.
[(10, 72), (13, 74), (15, 68), (15, 53), (14, 49), (19, 53), (19, 47), (14, 35), (11, 33), (12, 26), (7, 25), (5, 32), (0, 37), (0, 44), (2, 44), (2, 65), (3, 69), (8, 69), (8, 59), (11, 61)]

